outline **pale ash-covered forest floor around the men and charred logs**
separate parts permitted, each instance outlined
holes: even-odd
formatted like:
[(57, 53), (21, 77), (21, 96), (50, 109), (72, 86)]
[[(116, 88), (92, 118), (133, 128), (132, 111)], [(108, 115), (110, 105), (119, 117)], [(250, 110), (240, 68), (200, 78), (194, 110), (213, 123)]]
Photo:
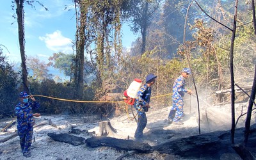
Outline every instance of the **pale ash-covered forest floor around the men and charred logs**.
[[(246, 106), (247, 104), (239, 104), (237, 108)], [(186, 138), (199, 134), (198, 129), (198, 111), (197, 106), (184, 107), (185, 116), (182, 118), (183, 125), (167, 124), (166, 118), (170, 111), (170, 106), (164, 108), (150, 108), (147, 113), (147, 127), (144, 130), (144, 143), (148, 143), (151, 146), (159, 145), (165, 141), (172, 141), (179, 138)], [(205, 116), (204, 113), (208, 111)], [(239, 112), (239, 111), (238, 111)], [(211, 114), (212, 113), (212, 114)], [(216, 115), (214, 115), (216, 113)], [(217, 114), (218, 113), (218, 114)], [(212, 108), (203, 109), (201, 111), (201, 123), (200, 132), (201, 134), (229, 130), (230, 129), (230, 104), (226, 106), (212, 106)], [(205, 118), (206, 117), (206, 118)], [(238, 127), (244, 127), (244, 118), (239, 120)], [(47, 123), (51, 120), (52, 124), (56, 127), (45, 124), (40, 127), (35, 127), (33, 134), (33, 144), (31, 147), (31, 157), (22, 156), (19, 145), (19, 137), (16, 136), (8, 141), (0, 143), (0, 160), (3, 159), (117, 159), (118, 157), (125, 154), (127, 151), (116, 150), (111, 147), (97, 147), (90, 148), (85, 145), (74, 146), (69, 143), (63, 143), (52, 140), (47, 133), (56, 132), (58, 133), (70, 133), (72, 134), (71, 128), (88, 130), (91, 133), (95, 133), (95, 136), (99, 134), (99, 122), (100, 120), (95, 117), (88, 116), (74, 116), (74, 115), (42, 115), (36, 118), (36, 125)], [(111, 137), (125, 139), (129, 137), (130, 140), (134, 140), (134, 132), (136, 130), (136, 121), (132, 114), (127, 115), (124, 113), (121, 116), (115, 116), (114, 118), (107, 119), (111, 122), (111, 125), (117, 130), (116, 134)], [(1, 129), (6, 124), (12, 121), (11, 118), (2, 119), (0, 121)], [(252, 116), (252, 124), (256, 123), (255, 112)], [(172, 134), (166, 135), (159, 130), (172, 131)], [(16, 132), (16, 124), (8, 128), (5, 132), (0, 132), (0, 140), (10, 136), (13, 132)], [(85, 139), (92, 137), (92, 134), (74, 134), (76, 136), (83, 137)], [(134, 154), (127, 156), (122, 159), (185, 159), (180, 156), (160, 154), (159, 152), (152, 152), (148, 154)], [(188, 159), (188, 158), (187, 158)], [(239, 159), (239, 157), (237, 157)]]

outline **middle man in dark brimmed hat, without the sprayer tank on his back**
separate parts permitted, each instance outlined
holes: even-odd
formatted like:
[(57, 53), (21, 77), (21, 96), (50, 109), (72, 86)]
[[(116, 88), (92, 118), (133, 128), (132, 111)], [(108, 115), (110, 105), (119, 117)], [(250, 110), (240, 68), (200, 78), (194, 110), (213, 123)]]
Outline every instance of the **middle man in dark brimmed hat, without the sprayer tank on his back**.
[(146, 84), (141, 86), (140, 90), (136, 95), (136, 99), (134, 102), (134, 108), (138, 113), (138, 124), (137, 129), (134, 134), (134, 138), (140, 139), (143, 137), (143, 130), (147, 125), (147, 116), (146, 113), (148, 111), (150, 96), (151, 96), (151, 86), (156, 82), (156, 77), (154, 74), (148, 74), (146, 77)]

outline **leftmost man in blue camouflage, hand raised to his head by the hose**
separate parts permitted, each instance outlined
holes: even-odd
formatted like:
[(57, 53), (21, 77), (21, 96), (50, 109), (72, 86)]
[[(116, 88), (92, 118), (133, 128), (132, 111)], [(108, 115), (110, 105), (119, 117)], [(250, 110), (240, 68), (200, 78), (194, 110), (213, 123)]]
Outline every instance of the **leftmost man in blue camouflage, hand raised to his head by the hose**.
[[(29, 98), (33, 102), (29, 102)], [(32, 109), (37, 109), (40, 104), (36, 102), (33, 95), (28, 95), (26, 92), (20, 92), (19, 104), (15, 106), (15, 114), (17, 116), (17, 133), (20, 137), (20, 147), (23, 156), (30, 157), (29, 147), (32, 143), (33, 125), (35, 124), (34, 116), (41, 116), (39, 113), (32, 113)]]

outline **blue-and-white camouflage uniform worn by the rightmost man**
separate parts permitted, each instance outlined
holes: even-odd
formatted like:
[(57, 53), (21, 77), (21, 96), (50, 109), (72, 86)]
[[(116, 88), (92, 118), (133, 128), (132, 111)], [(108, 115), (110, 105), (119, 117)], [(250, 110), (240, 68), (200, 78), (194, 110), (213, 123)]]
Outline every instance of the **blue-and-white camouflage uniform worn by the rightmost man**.
[(186, 81), (183, 76), (179, 76), (175, 83), (173, 83), (172, 88), (172, 109), (168, 115), (169, 120), (173, 120), (173, 122), (178, 122), (180, 120), (180, 117), (183, 114), (183, 98), (185, 93), (188, 92), (188, 90), (185, 89)]

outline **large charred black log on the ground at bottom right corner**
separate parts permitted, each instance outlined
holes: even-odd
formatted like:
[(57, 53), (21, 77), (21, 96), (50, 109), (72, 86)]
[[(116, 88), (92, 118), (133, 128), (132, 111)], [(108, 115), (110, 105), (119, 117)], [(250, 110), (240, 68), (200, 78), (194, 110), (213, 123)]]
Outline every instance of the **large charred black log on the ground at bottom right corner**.
[[(244, 128), (236, 129), (235, 140), (243, 143), (243, 134)], [(254, 150), (255, 152), (255, 141), (256, 124), (251, 126), (247, 150)], [(193, 157), (196, 159), (202, 157), (206, 159), (220, 159), (220, 156), (225, 153), (236, 154), (236, 151), (231, 146), (230, 131), (216, 131), (198, 136), (190, 136), (188, 138), (167, 141), (152, 148), (162, 154), (175, 154), (182, 157)]]

